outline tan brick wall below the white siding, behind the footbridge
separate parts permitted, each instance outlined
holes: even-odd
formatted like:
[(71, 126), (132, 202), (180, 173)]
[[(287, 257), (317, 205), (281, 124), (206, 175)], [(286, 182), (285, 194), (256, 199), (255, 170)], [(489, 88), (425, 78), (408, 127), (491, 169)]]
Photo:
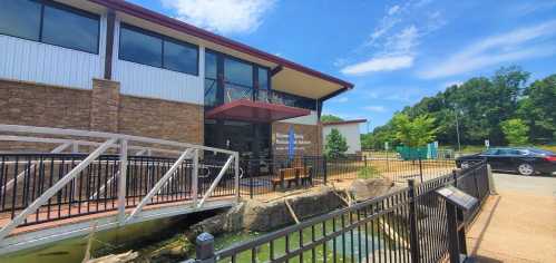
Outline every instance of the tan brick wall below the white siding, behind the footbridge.
[[(119, 82), (94, 79), (92, 90), (0, 79), (0, 124), (129, 134), (203, 144), (203, 106), (125, 96)], [(33, 147), (31, 147), (31, 145)], [(2, 150), (56, 145), (2, 143)]]

